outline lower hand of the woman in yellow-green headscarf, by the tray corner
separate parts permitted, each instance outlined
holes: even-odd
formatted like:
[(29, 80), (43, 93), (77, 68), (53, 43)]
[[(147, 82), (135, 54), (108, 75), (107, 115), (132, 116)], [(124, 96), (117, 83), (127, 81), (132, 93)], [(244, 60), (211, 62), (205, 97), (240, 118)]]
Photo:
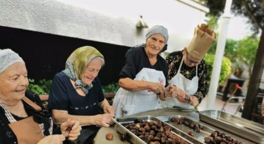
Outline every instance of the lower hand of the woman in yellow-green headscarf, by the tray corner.
[(100, 114), (95, 117), (95, 124), (102, 127), (109, 127), (113, 125), (112, 118), (114, 118), (114, 114)]

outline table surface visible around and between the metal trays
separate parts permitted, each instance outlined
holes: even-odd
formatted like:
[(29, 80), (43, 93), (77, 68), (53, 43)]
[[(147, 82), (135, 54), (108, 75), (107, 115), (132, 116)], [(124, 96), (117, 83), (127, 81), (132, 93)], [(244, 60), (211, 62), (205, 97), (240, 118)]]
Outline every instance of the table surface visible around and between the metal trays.
[[(225, 130), (219, 129), (215, 126), (212, 126), (210, 124), (207, 124), (205, 122), (202, 122), (199, 120), (199, 114), (196, 113), (195, 111), (177, 111), (177, 110), (171, 110), (169, 108), (163, 108), (163, 109), (157, 109), (157, 110), (151, 110), (151, 111), (146, 111), (146, 112), (142, 112), (142, 113), (138, 113), (138, 114), (133, 114), (127, 117), (137, 117), (137, 116), (168, 116), (168, 115), (181, 115), (184, 116), (186, 118), (192, 119), (194, 121), (197, 121), (207, 127), (210, 127), (214, 130), (217, 130), (219, 132), (225, 133), (226, 135), (231, 136), (232, 138), (243, 142), (244, 144), (255, 144), (249, 140), (246, 140), (244, 138), (241, 138), (239, 136), (236, 136), (232, 133), (229, 133)], [(106, 134), (107, 133), (112, 133), (113, 134), (113, 140), (107, 140), (106, 139)], [(128, 141), (121, 141), (120, 140), (120, 134), (117, 132), (116, 130), (116, 125), (109, 127), (109, 128), (101, 128), (98, 133), (97, 136), (94, 139), (94, 144), (130, 144), (130, 142)]]

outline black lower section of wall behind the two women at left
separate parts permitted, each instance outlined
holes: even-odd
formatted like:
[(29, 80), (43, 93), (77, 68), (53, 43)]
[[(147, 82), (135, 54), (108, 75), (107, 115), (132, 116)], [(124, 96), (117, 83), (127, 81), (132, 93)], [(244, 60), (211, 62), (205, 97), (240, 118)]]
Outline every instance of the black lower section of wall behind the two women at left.
[(0, 26), (0, 49), (12, 49), (26, 63), (28, 77), (53, 79), (65, 68), (70, 54), (82, 46), (93, 46), (105, 57), (99, 72), (102, 85), (118, 82), (130, 47)]

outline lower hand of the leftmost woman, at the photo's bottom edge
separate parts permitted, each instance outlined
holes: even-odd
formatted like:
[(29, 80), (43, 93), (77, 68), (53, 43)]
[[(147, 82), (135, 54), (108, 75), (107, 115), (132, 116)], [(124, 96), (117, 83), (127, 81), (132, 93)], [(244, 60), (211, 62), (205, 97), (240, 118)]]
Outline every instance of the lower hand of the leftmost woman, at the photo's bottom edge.
[(41, 139), (37, 144), (63, 144), (65, 137), (63, 135), (49, 135)]

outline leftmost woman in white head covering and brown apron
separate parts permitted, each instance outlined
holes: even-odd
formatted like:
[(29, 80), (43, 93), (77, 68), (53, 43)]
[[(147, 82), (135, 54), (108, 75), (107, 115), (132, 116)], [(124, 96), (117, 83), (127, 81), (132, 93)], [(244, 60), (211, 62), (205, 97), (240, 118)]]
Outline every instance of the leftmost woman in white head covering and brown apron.
[[(38, 95), (25, 93), (27, 86), (22, 58), (10, 49), (0, 50), (0, 144), (62, 144), (65, 137), (77, 139), (81, 127), (71, 120), (61, 124), (63, 135), (52, 135), (51, 114), (43, 110)], [(72, 130), (65, 133), (70, 125)]]

